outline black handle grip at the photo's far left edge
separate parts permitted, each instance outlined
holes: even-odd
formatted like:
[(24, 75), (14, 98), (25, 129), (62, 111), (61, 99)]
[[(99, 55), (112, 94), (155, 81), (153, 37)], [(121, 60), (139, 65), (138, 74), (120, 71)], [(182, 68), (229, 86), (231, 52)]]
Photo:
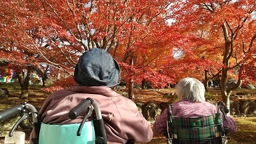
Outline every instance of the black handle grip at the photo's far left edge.
[(24, 105), (15, 105), (14, 107), (11, 107), (9, 109), (6, 109), (5, 111), (0, 112), (0, 121), (3, 121), (5, 119), (8, 119), (9, 117), (19, 113), (23, 109)]

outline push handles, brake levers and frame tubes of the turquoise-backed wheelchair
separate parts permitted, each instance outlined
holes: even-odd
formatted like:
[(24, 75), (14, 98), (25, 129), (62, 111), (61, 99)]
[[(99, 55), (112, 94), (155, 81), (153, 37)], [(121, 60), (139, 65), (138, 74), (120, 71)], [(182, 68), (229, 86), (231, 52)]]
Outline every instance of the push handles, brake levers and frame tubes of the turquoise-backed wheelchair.
[[(95, 111), (96, 119), (93, 119), (94, 129), (95, 129), (95, 143), (107, 144), (105, 126), (101, 116), (101, 110), (99, 108), (99, 104), (97, 103), (97, 101), (94, 101), (91, 98), (83, 99), (83, 101), (81, 101), (79, 105), (77, 105), (71, 111), (69, 111), (68, 113), (69, 118), (76, 119), (85, 110), (87, 110), (87, 114), (85, 115), (85, 117), (83, 117), (83, 120), (79, 125), (79, 129), (77, 129), (77, 136), (81, 135), (81, 129), (83, 128), (83, 124), (85, 123), (87, 118), (92, 115), (93, 111)], [(32, 115), (33, 126), (35, 129), (35, 134), (37, 136), (36, 141), (39, 141), (41, 118), (39, 117), (39, 113), (37, 112), (37, 109), (33, 105), (25, 102), (19, 105), (15, 105), (9, 109), (5, 109), (4, 111), (0, 112), (0, 121), (8, 119), (9, 117), (16, 115), (17, 113), (21, 113), (21, 118), (15, 123), (15, 125), (13, 125), (11, 131), (9, 131), (9, 137), (13, 136), (13, 131), (17, 129), (21, 121), (27, 119), (29, 115)]]

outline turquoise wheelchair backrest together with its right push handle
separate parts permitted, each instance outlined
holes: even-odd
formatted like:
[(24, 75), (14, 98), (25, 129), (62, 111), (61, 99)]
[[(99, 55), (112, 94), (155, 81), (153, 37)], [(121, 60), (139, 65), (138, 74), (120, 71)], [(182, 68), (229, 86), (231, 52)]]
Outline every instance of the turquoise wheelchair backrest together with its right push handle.
[[(81, 123), (68, 125), (41, 123), (39, 144), (107, 144), (104, 122), (97, 101), (91, 98), (83, 99), (79, 105), (69, 111), (69, 118), (76, 119), (85, 110), (87, 110), (87, 113)], [(96, 119), (93, 118), (91, 121), (87, 121), (87, 118), (93, 115), (93, 111)]]

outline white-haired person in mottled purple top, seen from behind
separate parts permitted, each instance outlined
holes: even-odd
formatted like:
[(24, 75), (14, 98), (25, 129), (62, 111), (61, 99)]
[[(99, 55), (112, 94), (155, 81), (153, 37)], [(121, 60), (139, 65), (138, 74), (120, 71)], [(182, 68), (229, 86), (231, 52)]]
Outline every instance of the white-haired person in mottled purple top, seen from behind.
[[(172, 115), (176, 117), (203, 117), (217, 113), (218, 109), (215, 105), (205, 101), (205, 87), (201, 81), (186, 77), (181, 79), (175, 86), (179, 101), (172, 103)], [(229, 133), (237, 131), (235, 121), (223, 115), (223, 126), (228, 129)], [(157, 117), (153, 125), (155, 133), (164, 133), (167, 130), (167, 109)]]

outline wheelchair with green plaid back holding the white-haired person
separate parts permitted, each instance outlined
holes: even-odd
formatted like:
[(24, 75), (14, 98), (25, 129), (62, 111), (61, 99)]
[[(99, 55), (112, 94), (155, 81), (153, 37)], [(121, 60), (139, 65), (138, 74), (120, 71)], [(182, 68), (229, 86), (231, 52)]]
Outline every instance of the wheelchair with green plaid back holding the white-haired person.
[(172, 105), (167, 105), (167, 131), (164, 135), (168, 144), (226, 144), (230, 137), (225, 134), (228, 129), (223, 127), (223, 118), (226, 119), (225, 113), (229, 113), (227, 107), (222, 101), (217, 103), (218, 112), (214, 115), (205, 117), (175, 117), (172, 115)]

